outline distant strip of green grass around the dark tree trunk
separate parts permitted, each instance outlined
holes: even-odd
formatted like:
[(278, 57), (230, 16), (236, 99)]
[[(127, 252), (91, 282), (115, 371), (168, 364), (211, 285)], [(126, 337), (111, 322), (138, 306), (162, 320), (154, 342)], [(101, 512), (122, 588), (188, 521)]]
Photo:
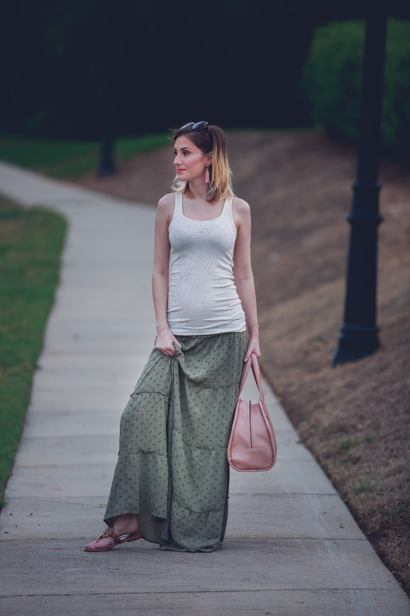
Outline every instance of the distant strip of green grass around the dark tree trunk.
[[(167, 133), (123, 137), (116, 140), (118, 163), (169, 144)], [(26, 137), (0, 137), (0, 159), (35, 169), (47, 176), (70, 180), (94, 171), (98, 163), (96, 141), (52, 141)]]

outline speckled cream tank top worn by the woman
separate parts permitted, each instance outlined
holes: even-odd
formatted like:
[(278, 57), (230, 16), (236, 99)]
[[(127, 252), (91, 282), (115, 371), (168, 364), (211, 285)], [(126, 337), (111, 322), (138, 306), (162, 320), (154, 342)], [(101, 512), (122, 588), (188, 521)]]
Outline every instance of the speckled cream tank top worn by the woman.
[(177, 336), (206, 336), (245, 331), (246, 321), (233, 279), (236, 227), (232, 198), (211, 221), (193, 221), (175, 194), (169, 225), (171, 262), (167, 321)]

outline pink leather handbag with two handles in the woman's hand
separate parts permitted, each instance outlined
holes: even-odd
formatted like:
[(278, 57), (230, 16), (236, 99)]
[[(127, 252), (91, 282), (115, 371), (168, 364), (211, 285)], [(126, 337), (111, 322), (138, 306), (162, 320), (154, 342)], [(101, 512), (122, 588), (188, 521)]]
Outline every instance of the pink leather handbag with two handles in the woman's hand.
[[(241, 391), (251, 369), (259, 389), (259, 400), (241, 400)], [(257, 357), (251, 353), (239, 383), (239, 400), (228, 444), (228, 461), (235, 471), (268, 471), (276, 462), (276, 439), (260, 383)]]

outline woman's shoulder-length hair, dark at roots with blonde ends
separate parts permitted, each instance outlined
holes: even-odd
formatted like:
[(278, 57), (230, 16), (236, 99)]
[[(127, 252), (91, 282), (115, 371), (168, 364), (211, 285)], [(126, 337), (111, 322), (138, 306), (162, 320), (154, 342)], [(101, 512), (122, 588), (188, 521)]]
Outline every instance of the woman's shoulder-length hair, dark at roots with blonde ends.
[[(207, 200), (208, 203), (214, 205), (221, 198), (235, 197), (231, 185), (227, 140), (222, 129), (212, 124), (205, 124), (194, 131), (190, 126), (183, 126), (183, 128), (174, 131), (171, 139), (176, 141), (182, 135), (188, 137), (204, 154), (212, 152), (212, 164), (209, 165), (209, 194), (212, 195), (212, 198)], [(191, 192), (189, 182), (185, 184), (185, 182), (179, 180), (178, 174), (175, 176), (171, 188), (175, 193), (183, 193), (188, 199), (195, 198)]]

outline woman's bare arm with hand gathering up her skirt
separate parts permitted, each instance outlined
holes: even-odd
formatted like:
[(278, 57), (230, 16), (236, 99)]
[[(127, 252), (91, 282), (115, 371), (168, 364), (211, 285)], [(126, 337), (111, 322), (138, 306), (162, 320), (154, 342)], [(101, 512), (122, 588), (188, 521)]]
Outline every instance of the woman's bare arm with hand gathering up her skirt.
[(155, 219), (154, 267), (152, 272), (152, 295), (156, 316), (156, 348), (165, 355), (175, 355), (174, 344), (180, 343), (172, 334), (167, 323), (167, 301), (169, 287), (169, 243), (168, 227), (174, 215), (174, 195), (165, 195), (159, 203)]

